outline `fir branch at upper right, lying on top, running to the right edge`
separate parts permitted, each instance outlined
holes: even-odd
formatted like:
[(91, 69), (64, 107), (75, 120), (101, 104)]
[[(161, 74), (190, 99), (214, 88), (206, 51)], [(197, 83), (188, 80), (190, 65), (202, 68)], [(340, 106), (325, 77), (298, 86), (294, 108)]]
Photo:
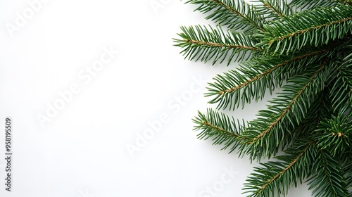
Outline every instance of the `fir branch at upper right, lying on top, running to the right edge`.
[(352, 7), (340, 5), (296, 13), (265, 25), (265, 30), (267, 33), (257, 34), (263, 39), (257, 46), (267, 46), (273, 53), (290, 53), (308, 44), (320, 46), (352, 34)]

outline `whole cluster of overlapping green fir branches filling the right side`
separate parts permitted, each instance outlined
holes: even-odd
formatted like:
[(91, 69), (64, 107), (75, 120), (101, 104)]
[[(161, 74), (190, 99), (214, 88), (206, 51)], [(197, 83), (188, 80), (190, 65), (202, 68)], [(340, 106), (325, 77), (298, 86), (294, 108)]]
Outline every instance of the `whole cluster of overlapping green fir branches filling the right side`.
[[(312, 196), (352, 196), (352, 1), (251, 2), (186, 2), (218, 26), (181, 27), (175, 46), (189, 60), (230, 68), (209, 83), (216, 110), (194, 118), (199, 139), (251, 160), (272, 158), (248, 177), (248, 196), (285, 196), (303, 181)], [(218, 111), (236, 112), (277, 89), (254, 120)]]

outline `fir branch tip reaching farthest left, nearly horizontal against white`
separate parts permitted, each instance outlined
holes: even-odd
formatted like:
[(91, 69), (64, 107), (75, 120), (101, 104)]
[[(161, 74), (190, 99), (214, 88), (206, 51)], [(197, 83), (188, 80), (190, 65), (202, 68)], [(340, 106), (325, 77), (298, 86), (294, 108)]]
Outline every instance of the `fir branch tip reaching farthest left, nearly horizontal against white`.
[[(221, 27), (202, 27), (201, 25), (181, 27), (182, 39), (174, 39), (175, 46), (183, 49), (184, 58), (195, 61), (213, 61), (213, 65), (225, 61), (244, 61), (263, 51), (255, 46), (253, 40), (241, 32), (224, 32)], [(229, 55), (229, 56), (227, 56)]]

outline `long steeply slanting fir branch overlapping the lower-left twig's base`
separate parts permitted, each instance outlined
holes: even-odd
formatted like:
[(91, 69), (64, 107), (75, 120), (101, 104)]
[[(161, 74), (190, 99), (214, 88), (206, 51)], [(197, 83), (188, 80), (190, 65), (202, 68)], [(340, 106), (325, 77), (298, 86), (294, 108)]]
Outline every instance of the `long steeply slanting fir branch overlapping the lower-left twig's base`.
[[(323, 63), (310, 76), (292, 77), (284, 85), (277, 98), (270, 101), (267, 110), (259, 110), (257, 118), (250, 121), (238, 137), (241, 144), (240, 155), (249, 154), (251, 160), (270, 158), (277, 153), (283, 137), (294, 131), (306, 117), (308, 108), (324, 87), (315, 87), (327, 81), (334, 70)], [(312, 89), (315, 89), (312, 91)]]

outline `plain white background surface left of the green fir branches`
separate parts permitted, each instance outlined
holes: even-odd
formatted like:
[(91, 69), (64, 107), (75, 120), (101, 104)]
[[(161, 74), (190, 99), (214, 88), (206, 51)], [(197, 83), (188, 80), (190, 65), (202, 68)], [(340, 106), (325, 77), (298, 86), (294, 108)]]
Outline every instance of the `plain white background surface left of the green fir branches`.
[[(0, 196), (241, 196), (257, 164), (192, 132), (197, 110), (215, 108), (196, 82), (211, 82), (236, 66), (185, 61), (172, 46), (181, 25), (210, 23), (193, 13), (194, 6), (51, 0), (30, 15), (32, 1), (0, 1), (0, 128), (5, 117), (13, 118), (13, 191), (5, 191), (0, 129)], [(119, 53), (90, 81), (82, 78), (104, 49)], [(72, 85), (79, 92), (48, 117), (59, 92)], [(250, 120), (263, 106), (253, 103), (233, 114)], [(41, 124), (44, 116), (48, 121)], [(158, 124), (161, 116), (168, 122)], [(150, 122), (158, 132), (127, 151)], [(310, 192), (300, 186), (289, 196)]]

